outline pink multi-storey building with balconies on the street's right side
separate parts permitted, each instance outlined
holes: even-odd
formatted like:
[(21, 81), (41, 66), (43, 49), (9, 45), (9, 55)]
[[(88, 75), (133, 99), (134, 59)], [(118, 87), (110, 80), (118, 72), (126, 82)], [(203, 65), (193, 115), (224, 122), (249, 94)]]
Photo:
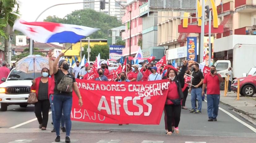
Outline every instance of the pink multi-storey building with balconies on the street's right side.
[(147, 0), (133, 0), (126, 5), (126, 11), (122, 18), (125, 24), (125, 31), (122, 33), (122, 39), (125, 40), (123, 56), (129, 55), (130, 50), (130, 11), (131, 11), (131, 55), (135, 55), (139, 49), (138, 41), (142, 40), (142, 18), (140, 16), (140, 6)]

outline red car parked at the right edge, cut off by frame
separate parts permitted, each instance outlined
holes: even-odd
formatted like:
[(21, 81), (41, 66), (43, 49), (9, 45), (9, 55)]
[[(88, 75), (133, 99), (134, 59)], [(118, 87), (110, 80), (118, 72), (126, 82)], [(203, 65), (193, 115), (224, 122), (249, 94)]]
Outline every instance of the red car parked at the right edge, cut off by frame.
[(256, 89), (256, 74), (248, 77), (234, 79), (231, 90), (237, 92), (237, 81), (240, 80), (240, 94), (244, 96), (253, 96)]

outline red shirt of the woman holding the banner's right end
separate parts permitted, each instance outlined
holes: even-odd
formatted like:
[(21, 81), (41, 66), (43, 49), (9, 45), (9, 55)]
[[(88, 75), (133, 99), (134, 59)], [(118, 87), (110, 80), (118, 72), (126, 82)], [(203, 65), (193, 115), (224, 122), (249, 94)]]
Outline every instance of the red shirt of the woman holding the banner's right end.
[[(170, 81), (170, 85), (169, 85), (169, 90), (168, 90), (168, 94), (167, 94), (167, 105), (171, 105), (173, 104), (171, 100), (174, 99), (179, 99), (179, 93), (178, 93), (178, 88), (177, 88), (177, 84), (175, 82), (171, 82)], [(171, 100), (169, 100), (171, 99)]]

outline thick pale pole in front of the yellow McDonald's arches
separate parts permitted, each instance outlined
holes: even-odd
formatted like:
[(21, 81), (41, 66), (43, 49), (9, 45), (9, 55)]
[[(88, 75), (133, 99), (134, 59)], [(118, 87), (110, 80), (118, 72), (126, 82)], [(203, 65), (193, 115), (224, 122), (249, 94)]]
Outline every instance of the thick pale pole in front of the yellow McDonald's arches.
[(202, 0), (202, 25), (201, 25), (201, 39), (200, 39), (200, 50), (199, 50), (199, 63), (203, 62), (204, 52), (204, 25), (205, 25), (205, 1)]

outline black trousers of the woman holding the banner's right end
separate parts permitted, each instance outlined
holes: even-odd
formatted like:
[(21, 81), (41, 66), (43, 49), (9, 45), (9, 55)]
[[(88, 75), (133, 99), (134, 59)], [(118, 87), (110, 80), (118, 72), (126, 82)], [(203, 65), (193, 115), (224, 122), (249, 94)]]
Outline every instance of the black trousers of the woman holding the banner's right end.
[(175, 128), (179, 126), (181, 105), (165, 105), (165, 111), (167, 114), (167, 129), (171, 131), (172, 121), (174, 121)]

